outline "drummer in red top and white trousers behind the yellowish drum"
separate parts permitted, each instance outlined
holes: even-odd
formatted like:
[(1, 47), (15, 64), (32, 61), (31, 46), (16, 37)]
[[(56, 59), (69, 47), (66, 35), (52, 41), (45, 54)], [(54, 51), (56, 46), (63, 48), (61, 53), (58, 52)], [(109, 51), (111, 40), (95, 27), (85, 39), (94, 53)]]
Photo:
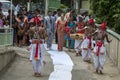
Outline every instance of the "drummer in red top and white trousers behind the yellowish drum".
[[(82, 16), (78, 16), (78, 22), (76, 23), (76, 34), (84, 34), (85, 30), (83, 29), (85, 27), (85, 23), (83, 22)], [(82, 30), (81, 30), (82, 29)], [(78, 35), (78, 37), (80, 37)], [(75, 39), (75, 51), (76, 51), (76, 56), (81, 55), (81, 42), (82, 39)]]

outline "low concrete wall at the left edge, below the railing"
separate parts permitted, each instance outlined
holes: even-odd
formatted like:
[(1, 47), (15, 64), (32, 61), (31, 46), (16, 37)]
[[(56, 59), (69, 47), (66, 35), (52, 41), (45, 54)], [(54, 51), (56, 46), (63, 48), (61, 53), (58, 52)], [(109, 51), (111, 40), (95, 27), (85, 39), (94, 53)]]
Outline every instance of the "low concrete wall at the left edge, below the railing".
[(0, 48), (0, 74), (2, 70), (14, 59), (15, 51), (6, 47)]

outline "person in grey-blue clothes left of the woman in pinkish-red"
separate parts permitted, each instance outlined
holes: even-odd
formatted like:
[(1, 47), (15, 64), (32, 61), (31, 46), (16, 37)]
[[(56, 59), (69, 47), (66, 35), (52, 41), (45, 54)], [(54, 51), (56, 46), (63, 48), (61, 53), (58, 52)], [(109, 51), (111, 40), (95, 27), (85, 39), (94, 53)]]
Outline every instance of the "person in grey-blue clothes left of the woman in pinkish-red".
[(52, 16), (52, 12), (48, 11), (48, 15), (45, 16), (44, 18), (44, 25), (47, 31), (47, 48), (49, 50), (52, 49), (52, 41), (53, 41), (53, 37), (54, 37), (54, 32), (55, 32), (55, 19)]

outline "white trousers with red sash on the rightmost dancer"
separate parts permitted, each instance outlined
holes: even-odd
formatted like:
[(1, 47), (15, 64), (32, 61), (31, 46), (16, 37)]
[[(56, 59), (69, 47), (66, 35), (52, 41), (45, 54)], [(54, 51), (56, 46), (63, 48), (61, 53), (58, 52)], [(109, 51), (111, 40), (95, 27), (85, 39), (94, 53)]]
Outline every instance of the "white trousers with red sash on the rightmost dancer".
[(106, 56), (106, 48), (105, 44), (101, 41), (96, 42), (96, 46), (94, 47), (94, 66), (97, 70), (102, 70), (103, 65), (105, 63), (105, 56)]

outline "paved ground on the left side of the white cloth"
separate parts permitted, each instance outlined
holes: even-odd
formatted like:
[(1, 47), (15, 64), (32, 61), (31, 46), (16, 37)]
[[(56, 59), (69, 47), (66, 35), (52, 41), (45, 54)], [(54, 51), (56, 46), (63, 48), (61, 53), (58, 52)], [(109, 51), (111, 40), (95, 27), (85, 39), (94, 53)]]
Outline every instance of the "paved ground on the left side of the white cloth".
[(42, 69), (42, 77), (34, 77), (32, 64), (29, 61), (29, 52), (25, 48), (14, 48), (18, 52), (10, 68), (1, 77), (0, 80), (48, 80), (53, 71), (53, 64), (49, 54), (46, 54), (46, 65)]

